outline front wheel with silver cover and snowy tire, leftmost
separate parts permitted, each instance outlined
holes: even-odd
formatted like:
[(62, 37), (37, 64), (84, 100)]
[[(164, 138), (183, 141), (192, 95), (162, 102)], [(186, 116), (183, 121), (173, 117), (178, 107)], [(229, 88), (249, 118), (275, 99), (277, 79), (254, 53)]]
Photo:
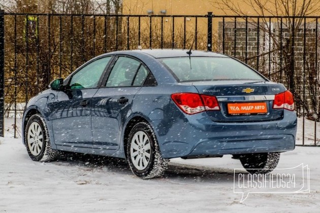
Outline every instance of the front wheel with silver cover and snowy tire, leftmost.
[(58, 154), (58, 151), (51, 148), (48, 128), (40, 114), (35, 114), (28, 119), (24, 140), (27, 152), (34, 161), (52, 161)]

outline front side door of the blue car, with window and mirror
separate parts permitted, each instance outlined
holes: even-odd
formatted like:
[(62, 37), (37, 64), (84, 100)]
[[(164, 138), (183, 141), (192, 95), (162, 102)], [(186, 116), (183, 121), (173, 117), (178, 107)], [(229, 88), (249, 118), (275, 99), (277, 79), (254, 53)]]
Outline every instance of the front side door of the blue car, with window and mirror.
[(112, 57), (93, 60), (80, 68), (52, 107), (54, 143), (92, 148), (91, 104)]

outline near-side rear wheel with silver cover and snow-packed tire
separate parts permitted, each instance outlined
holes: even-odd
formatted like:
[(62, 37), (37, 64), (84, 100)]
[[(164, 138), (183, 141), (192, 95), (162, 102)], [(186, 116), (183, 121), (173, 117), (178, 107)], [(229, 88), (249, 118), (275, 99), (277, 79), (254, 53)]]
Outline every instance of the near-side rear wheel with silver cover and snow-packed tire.
[(164, 174), (168, 160), (162, 158), (149, 123), (139, 122), (132, 128), (127, 143), (127, 160), (133, 173), (142, 179)]

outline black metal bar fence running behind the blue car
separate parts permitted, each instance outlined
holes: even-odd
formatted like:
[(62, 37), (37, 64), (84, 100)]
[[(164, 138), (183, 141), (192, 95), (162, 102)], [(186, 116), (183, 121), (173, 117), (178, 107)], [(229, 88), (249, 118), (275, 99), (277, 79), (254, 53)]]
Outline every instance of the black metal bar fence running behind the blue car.
[[(16, 14), (0, 12), (0, 135), (4, 115), (83, 62), (114, 50), (179, 48), (236, 57), (295, 96), (302, 140), (320, 143), (320, 17)], [(310, 125), (314, 122), (312, 134)], [(305, 129), (308, 128), (308, 135)], [(16, 129), (14, 130), (16, 137)]]

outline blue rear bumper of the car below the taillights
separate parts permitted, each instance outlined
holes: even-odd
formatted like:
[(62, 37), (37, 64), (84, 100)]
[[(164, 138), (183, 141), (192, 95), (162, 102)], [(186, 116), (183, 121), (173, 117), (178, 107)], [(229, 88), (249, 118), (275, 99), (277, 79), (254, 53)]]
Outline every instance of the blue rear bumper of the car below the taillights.
[(295, 149), (297, 116), (284, 111), (278, 121), (217, 123), (206, 113), (154, 121), (164, 158), (284, 152)]

